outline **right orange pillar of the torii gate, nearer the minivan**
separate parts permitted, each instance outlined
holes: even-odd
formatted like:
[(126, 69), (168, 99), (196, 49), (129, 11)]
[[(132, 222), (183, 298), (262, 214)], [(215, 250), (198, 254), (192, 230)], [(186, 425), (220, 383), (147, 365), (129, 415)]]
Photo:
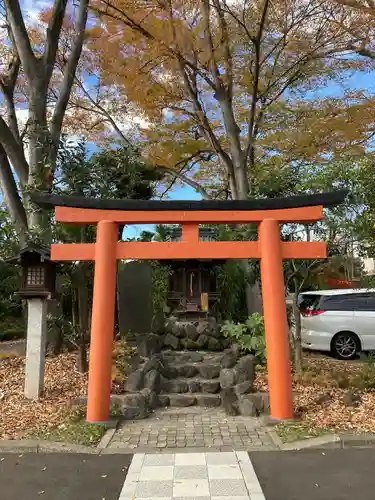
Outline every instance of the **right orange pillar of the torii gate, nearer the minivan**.
[(260, 223), (259, 244), (271, 417), (292, 419), (293, 391), (282, 243), (276, 220), (265, 219)]

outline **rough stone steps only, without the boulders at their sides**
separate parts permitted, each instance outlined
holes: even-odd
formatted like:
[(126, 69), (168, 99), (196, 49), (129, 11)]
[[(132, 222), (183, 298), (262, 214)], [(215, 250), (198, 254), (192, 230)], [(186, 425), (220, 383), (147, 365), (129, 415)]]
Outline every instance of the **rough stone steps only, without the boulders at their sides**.
[(220, 406), (220, 370), (224, 354), (209, 351), (164, 351), (166, 376), (159, 394), (162, 406)]

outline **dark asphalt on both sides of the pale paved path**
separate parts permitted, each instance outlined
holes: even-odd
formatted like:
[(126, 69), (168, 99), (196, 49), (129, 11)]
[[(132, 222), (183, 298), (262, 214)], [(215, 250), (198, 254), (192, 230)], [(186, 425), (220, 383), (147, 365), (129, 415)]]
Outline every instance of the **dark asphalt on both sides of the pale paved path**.
[[(266, 500), (375, 499), (374, 449), (267, 451), (249, 455)], [(2, 454), (0, 499), (118, 500), (131, 458)]]

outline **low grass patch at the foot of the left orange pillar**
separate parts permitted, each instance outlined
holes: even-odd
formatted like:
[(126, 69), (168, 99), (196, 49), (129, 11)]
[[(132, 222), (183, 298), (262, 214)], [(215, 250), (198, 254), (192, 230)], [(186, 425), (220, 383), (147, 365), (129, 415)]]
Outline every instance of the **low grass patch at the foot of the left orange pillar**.
[(35, 429), (27, 437), (84, 446), (96, 446), (104, 436), (105, 424), (89, 424), (84, 420), (85, 409), (74, 409), (67, 421), (49, 429)]

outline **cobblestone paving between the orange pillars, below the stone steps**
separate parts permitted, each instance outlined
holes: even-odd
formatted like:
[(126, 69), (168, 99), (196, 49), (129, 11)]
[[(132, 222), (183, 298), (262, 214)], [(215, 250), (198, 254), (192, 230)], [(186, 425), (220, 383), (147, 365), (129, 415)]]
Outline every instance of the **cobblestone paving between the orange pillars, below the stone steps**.
[(229, 417), (220, 409), (173, 408), (152, 417), (125, 421), (109, 448), (115, 451), (162, 452), (174, 449), (214, 451), (275, 449), (262, 421)]

